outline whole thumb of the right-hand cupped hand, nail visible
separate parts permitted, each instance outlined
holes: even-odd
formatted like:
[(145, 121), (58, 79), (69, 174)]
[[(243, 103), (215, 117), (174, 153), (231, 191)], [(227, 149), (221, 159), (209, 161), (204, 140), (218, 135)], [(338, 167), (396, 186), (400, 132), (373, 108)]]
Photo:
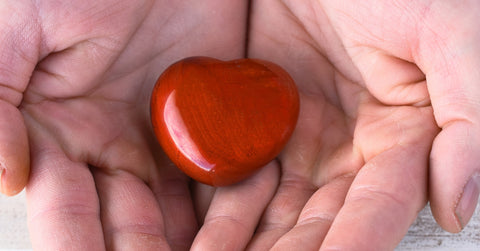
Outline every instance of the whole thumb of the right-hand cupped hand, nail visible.
[(442, 128), (431, 153), (431, 208), (444, 229), (458, 232), (472, 216), (480, 188), (480, 33), (474, 25), (480, 3), (450, 4), (433, 5), (424, 19), (421, 27), (438, 28), (422, 30), (418, 64)]

